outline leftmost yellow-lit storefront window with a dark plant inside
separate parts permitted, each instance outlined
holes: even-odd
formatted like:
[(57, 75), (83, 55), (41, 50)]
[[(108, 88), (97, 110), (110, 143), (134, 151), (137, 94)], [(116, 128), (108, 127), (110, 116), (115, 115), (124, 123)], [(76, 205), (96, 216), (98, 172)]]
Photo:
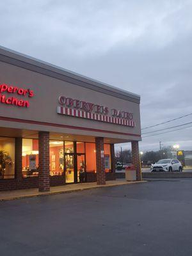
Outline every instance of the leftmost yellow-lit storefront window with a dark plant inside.
[(15, 178), (15, 139), (0, 137), (0, 179)]

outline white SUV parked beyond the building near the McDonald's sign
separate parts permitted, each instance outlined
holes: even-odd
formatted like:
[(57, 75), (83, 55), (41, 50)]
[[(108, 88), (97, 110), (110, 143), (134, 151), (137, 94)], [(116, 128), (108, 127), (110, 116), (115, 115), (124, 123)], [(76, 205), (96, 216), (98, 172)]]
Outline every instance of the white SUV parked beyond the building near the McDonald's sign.
[(182, 164), (177, 159), (161, 159), (152, 164), (152, 172), (182, 172)]

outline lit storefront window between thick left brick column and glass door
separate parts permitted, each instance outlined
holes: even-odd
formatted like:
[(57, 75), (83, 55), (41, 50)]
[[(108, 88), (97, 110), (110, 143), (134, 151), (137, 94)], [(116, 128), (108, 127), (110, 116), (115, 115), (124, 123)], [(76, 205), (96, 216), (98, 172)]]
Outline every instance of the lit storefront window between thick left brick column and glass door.
[(50, 175), (63, 174), (63, 141), (49, 141), (49, 170)]

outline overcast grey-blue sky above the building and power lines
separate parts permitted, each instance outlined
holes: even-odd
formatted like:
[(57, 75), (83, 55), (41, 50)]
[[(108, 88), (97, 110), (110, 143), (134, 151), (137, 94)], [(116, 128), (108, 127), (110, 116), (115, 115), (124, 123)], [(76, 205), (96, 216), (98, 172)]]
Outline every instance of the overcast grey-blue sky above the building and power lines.
[[(142, 127), (192, 113), (192, 0), (6, 0), (0, 8), (1, 45), (138, 93)], [(192, 116), (145, 132), (186, 122)], [(192, 150), (191, 133), (143, 138), (140, 148), (157, 150), (161, 140)]]

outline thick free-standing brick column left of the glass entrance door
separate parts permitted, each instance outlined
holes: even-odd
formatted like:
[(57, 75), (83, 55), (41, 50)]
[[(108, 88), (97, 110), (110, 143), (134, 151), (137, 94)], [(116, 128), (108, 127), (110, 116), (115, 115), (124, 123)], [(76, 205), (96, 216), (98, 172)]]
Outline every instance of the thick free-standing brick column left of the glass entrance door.
[(49, 132), (38, 133), (38, 190), (49, 191)]

